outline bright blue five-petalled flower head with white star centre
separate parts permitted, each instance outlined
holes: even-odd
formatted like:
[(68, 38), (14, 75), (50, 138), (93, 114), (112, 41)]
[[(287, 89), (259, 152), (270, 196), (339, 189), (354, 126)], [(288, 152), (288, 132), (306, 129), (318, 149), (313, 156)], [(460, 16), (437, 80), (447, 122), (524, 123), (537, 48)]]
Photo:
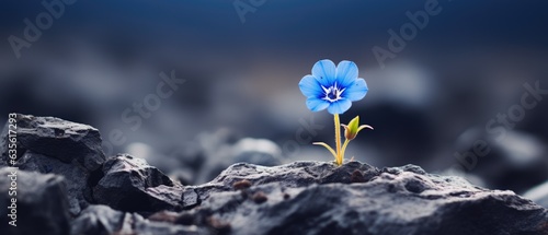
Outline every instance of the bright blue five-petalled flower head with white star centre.
[(367, 94), (367, 83), (357, 78), (357, 66), (343, 60), (336, 67), (331, 60), (320, 60), (312, 67), (312, 74), (299, 82), (300, 92), (307, 97), (312, 111), (328, 109), (332, 115), (343, 114)]

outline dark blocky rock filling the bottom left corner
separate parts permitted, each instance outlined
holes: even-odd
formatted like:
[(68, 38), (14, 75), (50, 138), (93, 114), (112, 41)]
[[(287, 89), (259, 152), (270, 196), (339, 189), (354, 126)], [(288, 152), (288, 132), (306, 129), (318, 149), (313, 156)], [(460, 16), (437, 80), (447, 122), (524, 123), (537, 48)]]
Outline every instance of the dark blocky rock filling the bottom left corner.
[[(11, 172), (16, 179), (11, 181)], [(67, 193), (64, 177), (18, 171), (14, 167), (0, 168), (0, 231), (11, 235), (67, 235), (70, 232)], [(12, 212), (10, 187), (16, 183), (16, 227), (9, 225)]]

